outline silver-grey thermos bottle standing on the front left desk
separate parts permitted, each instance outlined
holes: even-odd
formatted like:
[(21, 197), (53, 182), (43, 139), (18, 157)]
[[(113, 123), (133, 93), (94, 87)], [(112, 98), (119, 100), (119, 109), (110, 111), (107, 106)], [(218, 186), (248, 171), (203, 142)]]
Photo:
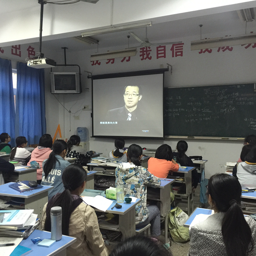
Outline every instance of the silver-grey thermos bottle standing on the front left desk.
[(51, 208), (51, 239), (59, 241), (62, 238), (62, 208), (55, 206)]

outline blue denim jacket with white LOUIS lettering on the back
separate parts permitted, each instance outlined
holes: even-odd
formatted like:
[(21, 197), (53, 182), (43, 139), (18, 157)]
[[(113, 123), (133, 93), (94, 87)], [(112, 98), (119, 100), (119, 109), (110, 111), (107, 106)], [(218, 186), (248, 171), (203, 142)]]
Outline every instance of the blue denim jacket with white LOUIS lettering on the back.
[(53, 167), (53, 169), (50, 171), (47, 177), (45, 177), (45, 173), (44, 173), (44, 166), (47, 159), (43, 162), (43, 174), (42, 174), (41, 185), (53, 186), (53, 189), (49, 190), (48, 192), (49, 200), (57, 193), (61, 193), (64, 191), (64, 186), (63, 186), (61, 177), (64, 169), (70, 165), (70, 162), (64, 160), (61, 156), (57, 154), (55, 156), (59, 160), (59, 162), (56, 161), (55, 167)]

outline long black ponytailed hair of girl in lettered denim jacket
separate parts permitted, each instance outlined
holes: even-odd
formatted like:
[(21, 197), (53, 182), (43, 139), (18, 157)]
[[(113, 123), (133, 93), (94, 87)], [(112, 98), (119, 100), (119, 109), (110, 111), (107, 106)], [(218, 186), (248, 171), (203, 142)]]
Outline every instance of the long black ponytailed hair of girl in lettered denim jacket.
[(49, 155), (49, 158), (47, 159), (47, 161), (45, 162), (44, 167), (43, 167), (43, 171), (45, 173), (45, 178), (48, 176), (51, 169), (53, 169), (55, 167), (56, 162), (60, 163), (60, 161), (56, 158), (55, 155), (60, 154), (62, 151), (67, 150), (67, 149), (68, 149), (68, 145), (64, 140), (58, 139), (58, 140), (54, 141), (53, 151)]

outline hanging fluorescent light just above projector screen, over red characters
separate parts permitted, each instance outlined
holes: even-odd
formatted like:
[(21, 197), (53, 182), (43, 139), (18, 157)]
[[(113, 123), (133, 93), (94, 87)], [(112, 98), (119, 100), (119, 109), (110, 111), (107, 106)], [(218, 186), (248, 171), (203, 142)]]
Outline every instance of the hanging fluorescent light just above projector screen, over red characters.
[(90, 56), (90, 61), (130, 57), (130, 56), (135, 56), (136, 53), (137, 53), (136, 48), (130, 48), (130, 49), (124, 49), (124, 50), (118, 50), (118, 51), (110, 51), (107, 53), (95, 53)]

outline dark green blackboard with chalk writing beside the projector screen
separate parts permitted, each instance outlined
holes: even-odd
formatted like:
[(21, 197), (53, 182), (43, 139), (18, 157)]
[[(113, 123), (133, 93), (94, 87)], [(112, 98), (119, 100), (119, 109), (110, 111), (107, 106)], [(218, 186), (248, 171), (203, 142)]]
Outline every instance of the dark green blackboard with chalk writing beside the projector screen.
[(256, 134), (256, 84), (164, 89), (165, 136)]

